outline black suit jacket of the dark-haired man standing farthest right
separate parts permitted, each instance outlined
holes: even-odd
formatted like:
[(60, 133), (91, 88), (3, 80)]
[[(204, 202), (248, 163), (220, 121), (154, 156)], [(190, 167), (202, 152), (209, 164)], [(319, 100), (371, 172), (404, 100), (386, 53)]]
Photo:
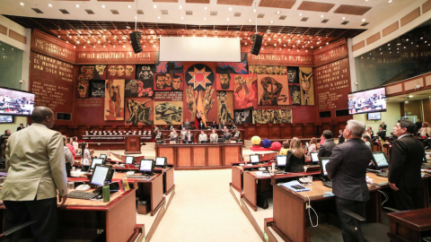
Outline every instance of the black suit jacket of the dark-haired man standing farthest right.
[(403, 136), (392, 143), (389, 182), (402, 187), (421, 187), (420, 166), (424, 154), (424, 145), (413, 135)]

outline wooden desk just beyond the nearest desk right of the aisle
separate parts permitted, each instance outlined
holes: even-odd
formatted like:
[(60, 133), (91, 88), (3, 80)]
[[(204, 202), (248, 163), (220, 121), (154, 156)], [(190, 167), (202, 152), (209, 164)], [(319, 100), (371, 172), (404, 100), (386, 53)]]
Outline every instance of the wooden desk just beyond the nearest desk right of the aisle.
[(320, 171), (289, 173), (275, 176), (256, 176), (258, 171), (244, 171), (243, 173), (243, 198), (254, 211), (258, 211), (258, 193), (266, 194), (269, 197), (272, 195), (271, 177), (278, 179), (292, 179), (303, 176), (316, 176), (321, 174)]

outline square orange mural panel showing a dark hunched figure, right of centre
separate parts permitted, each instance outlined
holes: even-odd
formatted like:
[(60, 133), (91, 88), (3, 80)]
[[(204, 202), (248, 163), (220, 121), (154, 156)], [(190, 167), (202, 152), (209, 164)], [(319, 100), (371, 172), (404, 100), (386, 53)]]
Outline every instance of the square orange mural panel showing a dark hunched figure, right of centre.
[(290, 105), (286, 75), (258, 74), (259, 106)]

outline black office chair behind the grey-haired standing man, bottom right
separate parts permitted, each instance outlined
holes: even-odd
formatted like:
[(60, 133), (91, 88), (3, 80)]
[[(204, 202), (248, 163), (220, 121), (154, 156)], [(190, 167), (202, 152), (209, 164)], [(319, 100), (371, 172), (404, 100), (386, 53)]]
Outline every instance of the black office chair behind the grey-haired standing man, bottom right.
[[(390, 212), (400, 212), (398, 210), (383, 207), (384, 210)], [(355, 236), (359, 242), (382, 242), (390, 241), (388, 237), (389, 227), (383, 223), (366, 223), (364, 217), (355, 212), (343, 211), (348, 216), (353, 218), (354, 226), (347, 228), (347, 232)]]

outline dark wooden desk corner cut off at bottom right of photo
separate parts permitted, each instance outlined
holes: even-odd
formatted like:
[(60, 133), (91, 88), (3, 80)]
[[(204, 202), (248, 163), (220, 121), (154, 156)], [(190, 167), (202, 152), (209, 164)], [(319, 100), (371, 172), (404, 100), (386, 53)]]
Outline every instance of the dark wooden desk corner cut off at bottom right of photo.
[(396, 242), (421, 242), (431, 237), (431, 209), (388, 213), (388, 236)]

